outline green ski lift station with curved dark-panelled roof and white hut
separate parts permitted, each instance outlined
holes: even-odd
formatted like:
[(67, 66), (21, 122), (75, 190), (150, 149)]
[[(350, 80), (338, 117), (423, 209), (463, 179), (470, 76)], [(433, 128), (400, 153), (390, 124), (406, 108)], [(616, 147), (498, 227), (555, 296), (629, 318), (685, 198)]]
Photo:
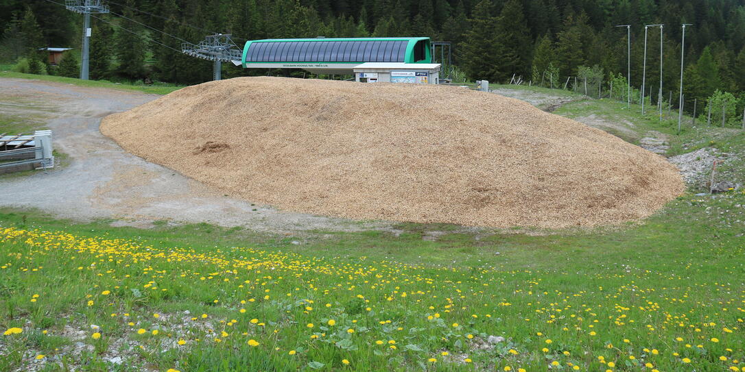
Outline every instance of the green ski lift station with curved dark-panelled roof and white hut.
[(314, 74), (353, 74), (360, 83), (440, 83), (428, 37), (250, 40), (244, 68), (302, 68)]

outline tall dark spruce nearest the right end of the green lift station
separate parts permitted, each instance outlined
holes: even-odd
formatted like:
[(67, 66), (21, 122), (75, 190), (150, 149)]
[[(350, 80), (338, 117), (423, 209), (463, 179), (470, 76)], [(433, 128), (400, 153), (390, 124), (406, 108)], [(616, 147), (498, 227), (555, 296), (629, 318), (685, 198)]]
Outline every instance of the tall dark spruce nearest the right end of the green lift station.
[(501, 59), (501, 45), (498, 45), (494, 25), (497, 18), (491, 0), (481, 0), (472, 11), (471, 28), (460, 46), (462, 65), (472, 79), (496, 82), (500, 77), (497, 66)]

